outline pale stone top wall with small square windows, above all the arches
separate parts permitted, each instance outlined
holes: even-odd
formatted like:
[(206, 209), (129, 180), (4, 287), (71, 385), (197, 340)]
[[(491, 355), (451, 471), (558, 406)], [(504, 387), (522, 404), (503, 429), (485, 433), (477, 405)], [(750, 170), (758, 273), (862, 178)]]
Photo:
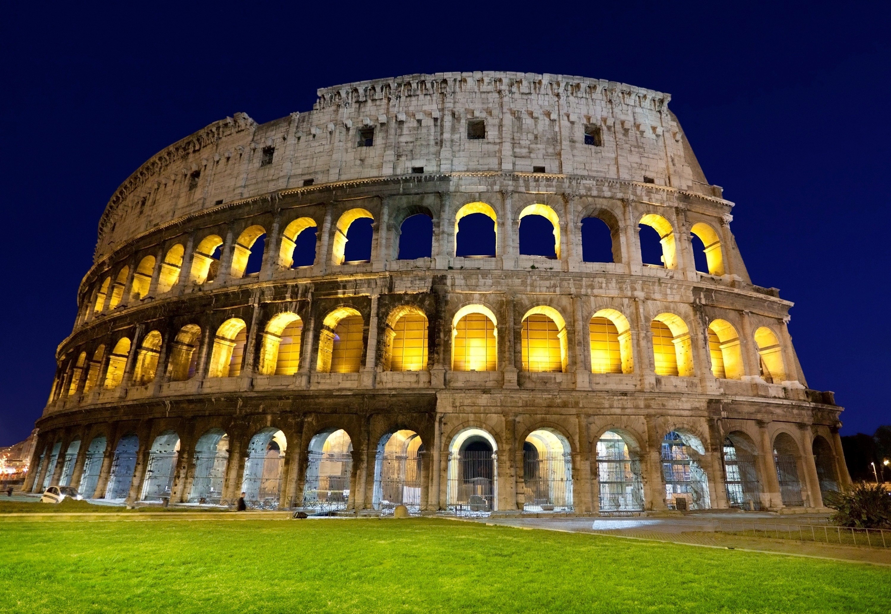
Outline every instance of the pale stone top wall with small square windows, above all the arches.
[[(176, 217), (303, 185), (423, 168), (603, 176), (721, 196), (707, 184), (669, 94), (612, 81), (510, 72), (438, 73), (318, 91), (313, 111), (257, 124), (235, 113), (170, 145), (114, 193), (95, 260)], [(469, 139), (468, 119), (486, 137)], [(601, 144), (584, 143), (585, 126)], [(358, 130), (373, 127), (371, 147)], [(266, 157), (264, 154), (266, 150)]]

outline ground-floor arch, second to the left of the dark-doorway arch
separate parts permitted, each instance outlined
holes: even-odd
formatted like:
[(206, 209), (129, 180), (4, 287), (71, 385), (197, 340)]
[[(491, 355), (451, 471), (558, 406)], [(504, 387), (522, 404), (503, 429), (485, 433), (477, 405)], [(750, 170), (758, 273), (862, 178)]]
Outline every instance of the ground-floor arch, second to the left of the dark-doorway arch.
[(309, 440), (303, 505), (323, 512), (343, 510), (350, 493), (353, 442), (347, 431), (323, 430)]

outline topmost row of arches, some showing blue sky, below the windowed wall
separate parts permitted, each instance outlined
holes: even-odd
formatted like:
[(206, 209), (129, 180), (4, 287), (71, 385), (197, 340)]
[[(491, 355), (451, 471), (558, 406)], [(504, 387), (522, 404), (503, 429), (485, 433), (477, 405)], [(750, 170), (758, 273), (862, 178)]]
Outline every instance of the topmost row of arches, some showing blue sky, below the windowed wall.
[[(420, 212), (406, 217), (400, 225), (401, 237), (411, 242), (411, 245), (403, 246), (403, 239), (400, 237), (400, 259), (429, 258), (432, 254), (432, 213), (424, 208), (419, 210)], [(551, 206), (541, 203), (528, 205), (520, 211), (518, 220), (520, 253), (561, 258), (560, 217)], [(340, 215), (332, 238), (332, 265), (360, 264), (371, 259), (374, 221), (371, 211), (367, 209), (348, 209)], [(648, 213), (641, 217), (639, 224), (642, 233), (642, 261), (649, 266), (677, 268), (674, 227), (666, 217)], [(317, 231), (318, 225), (313, 217), (298, 217), (286, 225), (277, 237), (277, 265), (286, 269), (313, 265), (317, 251)], [(581, 232), (585, 261), (616, 260), (619, 251), (616, 246), (618, 222), (615, 216), (601, 210), (592, 217), (585, 217)], [(454, 256), (495, 257), (497, 233), (498, 218), (491, 205), (486, 202), (465, 204), (454, 217)], [(528, 241), (524, 241), (526, 234)], [(705, 222), (693, 224), (691, 241), (696, 246), (694, 253), (697, 268), (702, 268), (703, 273), (723, 275), (725, 267), (722, 243), (715, 228)], [(600, 250), (589, 245), (597, 242), (601, 243)], [(117, 273), (109, 274), (97, 283), (91, 299), (82, 310), (80, 320), (85, 321), (130, 301), (144, 299), (150, 292), (156, 296), (164, 295), (186, 280), (199, 286), (214, 281), (224, 259), (224, 243), (224, 239), (218, 234), (211, 233), (202, 237), (192, 250), (187, 275), (182, 270), (187, 266), (182, 243), (170, 247), (163, 258), (157, 258), (156, 255), (144, 256), (132, 274), (130, 266), (120, 267)], [(524, 245), (527, 247), (524, 248)], [(228, 263), (229, 278), (240, 279), (245, 275), (258, 273), (264, 266), (265, 250), (266, 228), (262, 225), (250, 225), (244, 229), (232, 245)]]

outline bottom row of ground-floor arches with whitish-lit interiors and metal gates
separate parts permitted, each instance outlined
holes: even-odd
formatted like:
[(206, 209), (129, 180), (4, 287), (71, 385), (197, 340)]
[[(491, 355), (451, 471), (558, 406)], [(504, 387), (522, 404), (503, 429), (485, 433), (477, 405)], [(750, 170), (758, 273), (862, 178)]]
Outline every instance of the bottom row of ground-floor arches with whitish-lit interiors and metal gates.
[[(82, 455), (82, 469), (73, 483), (81, 441), (72, 441), (60, 458), (61, 441), (46, 446), (37, 460), (37, 479), (32, 490), (40, 492), (58, 476), (61, 486), (74, 486), (89, 498), (160, 501), (175, 495), (189, 503), (232, 503), (239, 492), (253, 507), (319, 508), (347, 507), (356, 484), (353, 471), (354, 449), (346, 430), (328, 428), (309, 439), (303, 469), (303, 488), (298, 497), (282, 501), (282, 479), (288, 441), (282, 430), (266, 427), (249, 440), (243, 459), (230, 458), (230, 438), (225, 430), (213, 428), (197, 439), (190, 467), (182, 471), (179, 457), (181, 440), (174, 430), (156, 436), (143, 467), (143, 479), (136, 475), (139, 438), (128, 433), (119, 438), (110, 454), (108, 441), (100, 435), (90, 441)], [(446, 465), (446, 507), (459, 512), (493, 512), (498, 507), (498, 444), (484, 428), (468, 427), (458, 432), (448, 445)], [(772, 468), (776, 472), (781, 503), (803, 506), (802, 472), (807, 471), (804, 454), (789, 434), (778, 433), (772, 441)], [(560, 430), (544, 427), (532, 430), (523, 442), (521, 454), (522, 508), (527, 511), (573, 511), (573, 450)], [(840, 487), (834, 454), (826, 439), (813, 438), (811, 453), (822, 495)], [(426, 503), (422, 491), (429, 481), (427, 454), (420, 435), (413, 430), (395, 430), (377, 443), (374, 456), (372, 507), (386, 512), (405, 504), (419, 511)], [(746, 510), (762, 509), (765, 492), (764, 468), (758, 463), (754, 441), (742, 431), (732, 431), (723, 440), (721, 476), (727, 503)], [(664, 503), (671, 509), (705, 510), (713, 506), (705, 462), (706, 448), (688, 430), (667, 431), (661, 441), (658, 460)], [(110, 463), (106, 462), (110, 460)], [(237, 490), (232, 483), (232, 462), (243, 461)], [(607, 430), (596, 442), (593, 459), (598, 484), (600, 512), (642, 512), (645, 509), (642, 450), (634, 436), (622, 429)], [(60, 469), (61, 471), (58, 471)], [(768, 465), (764, 465), (766, 467)], [(105, 479), (102, 479), (102, 472)], [(175, 493), (175, 480), (185, 479)], [(649, 479), (654, 479), (650, 475)], [(714, 479), (714, 478), (713, 478)], [(227, 480), (229, 484), (227, 485)], [(138, 492), (134, 489), (138, 489)]]

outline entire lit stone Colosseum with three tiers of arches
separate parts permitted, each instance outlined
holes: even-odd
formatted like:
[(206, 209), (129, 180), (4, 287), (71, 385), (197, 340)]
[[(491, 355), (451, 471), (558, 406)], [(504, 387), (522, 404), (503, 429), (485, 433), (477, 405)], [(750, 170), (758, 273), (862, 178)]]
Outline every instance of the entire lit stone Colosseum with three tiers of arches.
[(160, 151), (102, 214), (26, 488), (343, 514), (823, 509), (850, 483), (842, 409), (807, 387), (792, 303), (750, 281), (669, 100), (412, 75)]

